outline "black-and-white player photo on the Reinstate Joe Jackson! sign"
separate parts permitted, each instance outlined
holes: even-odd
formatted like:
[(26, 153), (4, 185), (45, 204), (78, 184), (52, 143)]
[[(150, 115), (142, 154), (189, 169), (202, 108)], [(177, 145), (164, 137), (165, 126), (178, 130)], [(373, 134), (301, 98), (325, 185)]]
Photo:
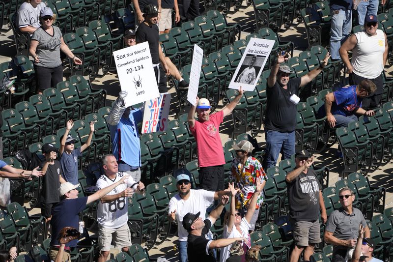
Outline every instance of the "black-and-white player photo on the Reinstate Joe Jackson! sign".
[(262, 69), (265, 56), (257, 55), (246, 55), (243, 60), (240, 70), (236, 76), (236, 83), (254, 85), (259, 75), (259, 71)]

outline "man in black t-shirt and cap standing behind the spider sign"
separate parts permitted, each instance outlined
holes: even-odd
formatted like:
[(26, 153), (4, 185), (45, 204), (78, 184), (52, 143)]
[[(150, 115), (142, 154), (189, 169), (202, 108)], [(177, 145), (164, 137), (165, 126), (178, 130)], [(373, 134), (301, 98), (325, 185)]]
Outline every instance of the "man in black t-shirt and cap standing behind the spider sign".
[(154, 4), (148, 4), (143, 8), (144, 20), (138, 27), (136, 39), (137, 44), (146, 41), (149, 43), (158, 90), (160, 93), (166, 93), (167, 77), (165, 74), (169, 75), (169, 68), (159, 42), (160, 37), (157, 26), (158, 13), (158, 8)]

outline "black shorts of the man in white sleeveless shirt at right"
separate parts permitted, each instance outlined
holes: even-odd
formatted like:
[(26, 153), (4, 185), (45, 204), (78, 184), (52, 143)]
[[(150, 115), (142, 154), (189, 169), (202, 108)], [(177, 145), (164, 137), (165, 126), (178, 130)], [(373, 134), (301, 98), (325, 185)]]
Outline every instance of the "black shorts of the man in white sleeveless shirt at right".
[[(362, 80), (365, 80), (367, 78), (361, 77), (356, 75), (355, 73), (349, 74), (349, 84), (351, 86), (358, 85)], [(376, 107), (379, 107), (381, 105), (381, 100), (382, 100), (382, 93), (383, 93), (383, 79), (382, 79), (382, 73), (374, 79), (369, 79), (371, 80), (377, 89), (375, 90), (375, 93), (373, 95), (370, 95), (369, 97), (363, 98), (362, 100), (362, 108), (365, 110), (370, 110), (374, 109)]]

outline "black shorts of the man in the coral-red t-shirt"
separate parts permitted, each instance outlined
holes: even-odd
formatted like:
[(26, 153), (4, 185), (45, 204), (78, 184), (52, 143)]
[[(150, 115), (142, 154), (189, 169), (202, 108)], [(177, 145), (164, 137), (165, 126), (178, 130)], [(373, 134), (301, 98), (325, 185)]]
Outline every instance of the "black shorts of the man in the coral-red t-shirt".
[(208, 191), (224, 190), (224, 166), (199, 168), (199, 183)]

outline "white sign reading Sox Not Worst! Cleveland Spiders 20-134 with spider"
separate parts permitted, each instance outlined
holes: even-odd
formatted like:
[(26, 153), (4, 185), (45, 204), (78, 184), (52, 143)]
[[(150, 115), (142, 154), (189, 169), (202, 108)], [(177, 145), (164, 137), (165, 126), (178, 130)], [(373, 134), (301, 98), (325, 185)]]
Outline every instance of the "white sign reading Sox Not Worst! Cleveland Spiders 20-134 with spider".
[(128, 91), (127, 107), (160, 96), (147, 42), (114, 51), (113, 57), (121, 90)]

